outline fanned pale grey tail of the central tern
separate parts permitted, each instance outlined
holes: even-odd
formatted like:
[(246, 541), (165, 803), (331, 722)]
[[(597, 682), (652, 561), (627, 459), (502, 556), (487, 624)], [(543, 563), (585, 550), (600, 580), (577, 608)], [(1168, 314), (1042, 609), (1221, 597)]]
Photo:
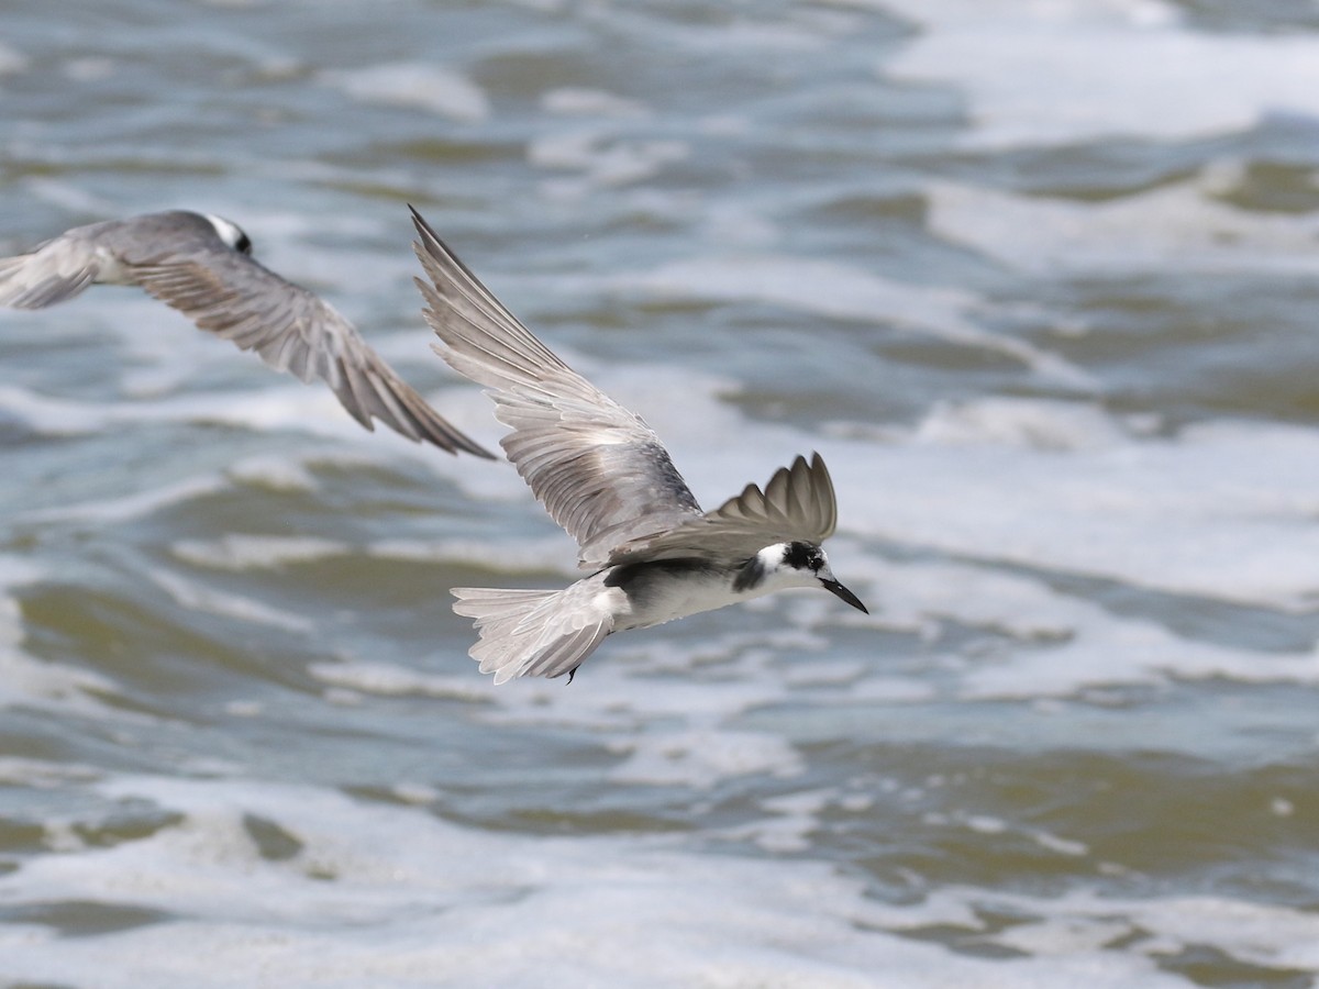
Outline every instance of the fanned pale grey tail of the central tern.
[(613, 630), (613, 616), (578, 582), (562, 591), (455, 587), (454, 612), (476, 620), (480, 641), (468, 653), (495, 683), (514, 676), (562, 676)]

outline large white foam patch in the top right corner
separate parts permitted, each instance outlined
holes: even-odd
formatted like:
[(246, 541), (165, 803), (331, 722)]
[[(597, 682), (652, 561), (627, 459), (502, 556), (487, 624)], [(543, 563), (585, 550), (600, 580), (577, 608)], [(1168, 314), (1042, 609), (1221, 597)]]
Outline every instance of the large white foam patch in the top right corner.
[(1155, 0), (884, 0), (922, 26), (880, 70), (947, 82), (966, 142), (1181, 141), (1248, 131), (1270, 113), (1319, 116), (1319, 40), (1200, 33)]

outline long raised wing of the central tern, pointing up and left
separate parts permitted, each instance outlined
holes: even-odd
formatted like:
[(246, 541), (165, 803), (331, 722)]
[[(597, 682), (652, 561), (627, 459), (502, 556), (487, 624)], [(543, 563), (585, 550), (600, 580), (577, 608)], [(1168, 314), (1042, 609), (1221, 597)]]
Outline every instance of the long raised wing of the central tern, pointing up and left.
[(458, 260), (413, 210), (417, 280), (437, 352), (485, 385), (500, 440), (550, 517), (578, 541), (583, 567), (615, 547), (700, 517), (700, 506), (660, 438), (559, 360)]

